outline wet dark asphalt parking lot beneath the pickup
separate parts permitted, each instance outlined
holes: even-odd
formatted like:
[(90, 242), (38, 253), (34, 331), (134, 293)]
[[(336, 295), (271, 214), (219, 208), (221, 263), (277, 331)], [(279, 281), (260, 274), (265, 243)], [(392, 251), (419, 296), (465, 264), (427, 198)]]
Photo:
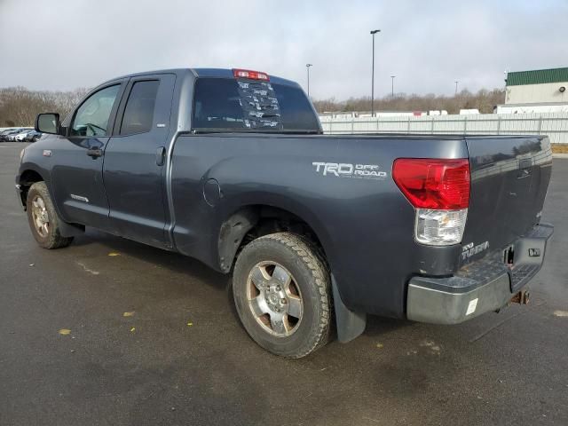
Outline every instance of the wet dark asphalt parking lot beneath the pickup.
[(192, 259), (91, 229), (39, 248), (14, 195), (23, 146), (0, 144), (0, 425), (568, 424), (568, 160), (531, 304), (453, 327), (370, 318), (288, 360)]

